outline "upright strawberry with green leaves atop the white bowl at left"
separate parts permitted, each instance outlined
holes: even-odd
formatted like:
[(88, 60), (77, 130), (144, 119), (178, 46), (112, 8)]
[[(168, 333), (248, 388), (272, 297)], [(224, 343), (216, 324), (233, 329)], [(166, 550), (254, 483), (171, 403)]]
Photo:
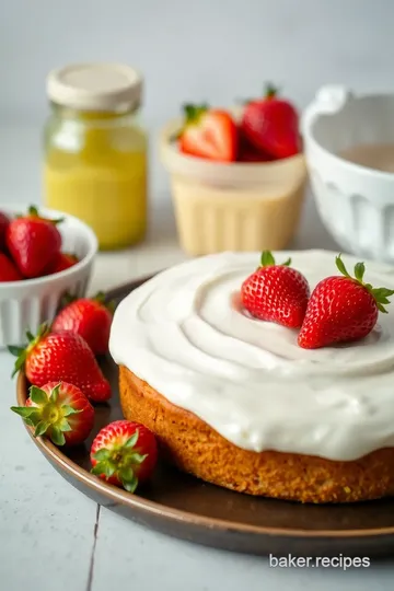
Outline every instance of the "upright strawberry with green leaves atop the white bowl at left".
[(7, 229), (8, 250), (24, 277), (39, 277), (60, 252), (61, 220), (42, 218), (35, 207), (26, 216), (12, 220)]

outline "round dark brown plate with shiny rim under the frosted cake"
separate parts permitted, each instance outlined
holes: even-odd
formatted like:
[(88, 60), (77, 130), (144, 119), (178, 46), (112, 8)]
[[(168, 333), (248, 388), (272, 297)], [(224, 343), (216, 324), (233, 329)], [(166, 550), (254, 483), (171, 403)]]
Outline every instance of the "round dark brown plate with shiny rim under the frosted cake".
[[(141, 282), (113, 290), (107, 297), (120, 301)], [(114, 396), (111, 404), (96, 407), (93, 434), (121, 418), (117, 368), (106, 359), (103, 370), (113, 384)], [(19, 405), (25, 403), (27, 387), (20, 373)], [(43, 438), (33, 441), (67, 480), (93, 500), (170, 535), (260, 555), (393, 555), (394, 500), (314, 506), (263, 499), (205, 484), (164, 464), (159, 465), (148, 487), (130, 495), (90, 474), (91, 440), (70, 450), (58, 449)]]

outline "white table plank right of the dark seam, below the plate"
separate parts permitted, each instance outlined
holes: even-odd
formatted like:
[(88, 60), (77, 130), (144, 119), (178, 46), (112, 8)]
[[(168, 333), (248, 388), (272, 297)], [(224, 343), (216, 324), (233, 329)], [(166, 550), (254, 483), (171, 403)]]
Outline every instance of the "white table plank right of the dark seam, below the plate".
[[(92, 591), (389, 591), (393, 567), (271, 568), (265, 558), (197, 546), (101, 510)], [(322, 577), (322, 575), (324, 575)]]

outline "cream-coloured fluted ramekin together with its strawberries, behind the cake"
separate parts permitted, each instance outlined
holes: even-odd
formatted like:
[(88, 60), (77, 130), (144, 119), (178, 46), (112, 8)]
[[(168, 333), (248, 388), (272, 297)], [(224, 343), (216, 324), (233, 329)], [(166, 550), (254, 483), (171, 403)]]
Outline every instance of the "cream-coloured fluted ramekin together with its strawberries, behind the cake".
[(185, 105), (161, 137), (183, 248), (285, 248), (304, 197), (301, 149), (297, 109), (271, 88), (242, 108)]

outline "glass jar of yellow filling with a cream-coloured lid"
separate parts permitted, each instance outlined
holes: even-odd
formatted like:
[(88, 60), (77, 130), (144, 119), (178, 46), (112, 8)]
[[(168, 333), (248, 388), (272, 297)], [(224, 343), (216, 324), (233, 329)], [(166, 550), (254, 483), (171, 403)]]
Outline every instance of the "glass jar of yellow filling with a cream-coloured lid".
[(141, 76), (120, 65), (69, 66), (49, 74), (47, 92), (46, 205), (91, 225), (102, 250), (142, 241), (148, 137), (138, 121)]

